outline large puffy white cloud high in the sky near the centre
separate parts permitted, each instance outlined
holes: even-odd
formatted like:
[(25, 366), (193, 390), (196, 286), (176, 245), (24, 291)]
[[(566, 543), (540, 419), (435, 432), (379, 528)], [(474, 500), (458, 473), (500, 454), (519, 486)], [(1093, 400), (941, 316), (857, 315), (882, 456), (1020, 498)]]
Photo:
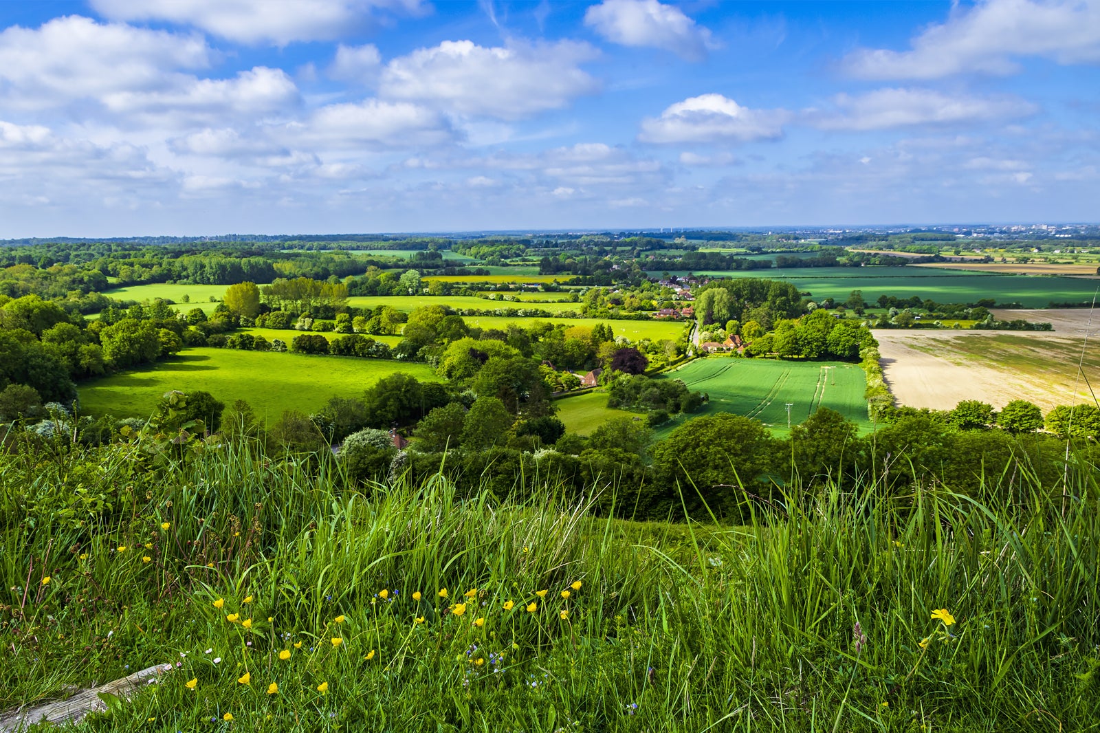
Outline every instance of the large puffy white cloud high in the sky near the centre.
[(592, 46), (571, 41), (492, 48), (444, 41), (389, 62), (380, 91), (458, 114), (515, 120), (595, 92), (598, 84), (578, 66), (595, 56)]

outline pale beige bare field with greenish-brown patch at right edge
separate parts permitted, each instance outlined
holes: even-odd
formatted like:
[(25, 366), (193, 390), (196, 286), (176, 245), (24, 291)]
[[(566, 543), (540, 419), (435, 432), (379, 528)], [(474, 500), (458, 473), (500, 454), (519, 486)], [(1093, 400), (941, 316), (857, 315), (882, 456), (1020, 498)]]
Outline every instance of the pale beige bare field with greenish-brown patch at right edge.
[(1001, 408), (1028, 400), (1046, 412), (1091, 403), (1091, 393), (1100, 394), (1096, 332), (1088, 342), (1071, 330), (876, 330), (875, 338), (890, 391), (899, 404), (911, 407), (950, 409), (963, 400), (981, 400)]

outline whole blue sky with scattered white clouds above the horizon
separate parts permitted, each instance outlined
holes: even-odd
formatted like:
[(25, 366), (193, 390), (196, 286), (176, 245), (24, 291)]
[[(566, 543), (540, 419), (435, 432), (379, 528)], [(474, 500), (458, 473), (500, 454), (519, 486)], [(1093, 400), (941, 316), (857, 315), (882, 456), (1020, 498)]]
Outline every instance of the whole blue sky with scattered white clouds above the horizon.
[(1096, 221), (1100, 0), (0, 2), (0, 238)]

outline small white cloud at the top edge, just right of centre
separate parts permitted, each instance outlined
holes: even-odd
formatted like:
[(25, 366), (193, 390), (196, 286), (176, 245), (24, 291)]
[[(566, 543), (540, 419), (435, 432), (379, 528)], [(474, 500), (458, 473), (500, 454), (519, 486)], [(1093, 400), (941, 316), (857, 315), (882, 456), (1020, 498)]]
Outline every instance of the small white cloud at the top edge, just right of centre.
[(588, 8), (584, 24), (613, 43), (663, 48), (689, 61), (701, 61), (714, 46), (710, 30), (657, 0), (604, 0)]

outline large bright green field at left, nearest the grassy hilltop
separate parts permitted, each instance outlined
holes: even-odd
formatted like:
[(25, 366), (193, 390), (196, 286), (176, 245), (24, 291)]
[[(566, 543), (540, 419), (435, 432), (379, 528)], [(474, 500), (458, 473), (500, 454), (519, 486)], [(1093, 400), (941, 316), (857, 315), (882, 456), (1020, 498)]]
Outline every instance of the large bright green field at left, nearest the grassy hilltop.
[(80, 404), (91, 415), (145, 417), (169, 390), (206, 390), (227, 405), (246, 400), (257, 416), (275, 420), (285, 409), (308, 415), (333, 395), (359, 395), (395, 372), (436, 380), (430, 366), (413, 362), (185, 349), (172, 361), (84, 383)]

